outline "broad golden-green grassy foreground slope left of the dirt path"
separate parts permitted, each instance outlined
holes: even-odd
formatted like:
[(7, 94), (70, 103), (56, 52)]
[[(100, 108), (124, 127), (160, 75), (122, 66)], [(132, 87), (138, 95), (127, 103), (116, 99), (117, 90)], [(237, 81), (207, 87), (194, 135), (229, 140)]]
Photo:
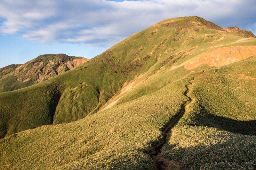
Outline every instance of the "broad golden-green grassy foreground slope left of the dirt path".
[(146, 154), (188, 99), (192, 75), (69, 124), (42, 126), (0, 140), (1, 167), (11, 169), (153, 169)]

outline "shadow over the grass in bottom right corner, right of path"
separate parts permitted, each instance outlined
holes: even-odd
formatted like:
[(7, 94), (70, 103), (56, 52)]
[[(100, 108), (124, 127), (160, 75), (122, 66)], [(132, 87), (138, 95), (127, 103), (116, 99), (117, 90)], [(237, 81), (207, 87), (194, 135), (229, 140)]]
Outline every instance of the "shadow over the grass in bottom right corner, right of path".
[(179, 162), (184, 169), (255, 169), (254, 142), (237, 136), (213, 145), (176, 147), (167, 142), (164, 157)]

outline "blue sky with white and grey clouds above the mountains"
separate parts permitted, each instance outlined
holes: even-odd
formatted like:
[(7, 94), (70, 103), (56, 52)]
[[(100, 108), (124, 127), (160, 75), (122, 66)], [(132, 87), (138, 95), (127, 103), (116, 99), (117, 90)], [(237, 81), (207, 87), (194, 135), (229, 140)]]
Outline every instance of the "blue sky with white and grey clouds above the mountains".
[(133, 33), (182, 16), (256, 34), (255, 0), (0, 0), (0, 68), (42, 54), (90, 59)]

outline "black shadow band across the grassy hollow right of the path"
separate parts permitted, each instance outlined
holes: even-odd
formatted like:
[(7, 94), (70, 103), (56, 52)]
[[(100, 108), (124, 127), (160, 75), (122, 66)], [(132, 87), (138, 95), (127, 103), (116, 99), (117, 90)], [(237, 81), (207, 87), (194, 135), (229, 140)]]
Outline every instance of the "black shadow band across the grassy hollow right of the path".
[(196, 122), (193, 125), (215, 127), (218, 130), (225, 130), (244, 135), (256, 135), (256, 120), (233, 120), (226, 117), (202, 114), (193, 118)]

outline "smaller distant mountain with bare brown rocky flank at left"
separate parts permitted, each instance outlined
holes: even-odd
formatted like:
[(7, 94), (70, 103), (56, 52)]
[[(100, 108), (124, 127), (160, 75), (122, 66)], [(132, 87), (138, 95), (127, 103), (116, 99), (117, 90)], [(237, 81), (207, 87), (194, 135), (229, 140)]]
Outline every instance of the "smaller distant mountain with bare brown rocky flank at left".
[(25, 64), (11, 64), (0, 69), (0, 92), (12, 91), (40, 83), (88, 61), (66, 54), (46, 54)]

